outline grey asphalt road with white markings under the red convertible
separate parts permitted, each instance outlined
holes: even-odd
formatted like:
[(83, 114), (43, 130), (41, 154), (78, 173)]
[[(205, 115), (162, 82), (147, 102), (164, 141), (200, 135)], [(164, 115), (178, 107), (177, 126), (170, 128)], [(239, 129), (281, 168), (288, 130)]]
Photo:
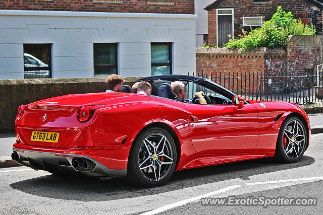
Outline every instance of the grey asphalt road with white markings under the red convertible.
[[(0, 169), (0, 214), (321, 213), (322, 146), (323, 134), (314, 134), (298, 163), (258, 159), (184, 170), (174, 173), (165, 186), (150, 189), (129, 185), (122, 178), (59, 177), (26, 167), (4, 168)], [(316, 197), (318, 202), (316, 206), (264, 208), (204, 206), (199, 200), (201, 196), (249, 195)]]

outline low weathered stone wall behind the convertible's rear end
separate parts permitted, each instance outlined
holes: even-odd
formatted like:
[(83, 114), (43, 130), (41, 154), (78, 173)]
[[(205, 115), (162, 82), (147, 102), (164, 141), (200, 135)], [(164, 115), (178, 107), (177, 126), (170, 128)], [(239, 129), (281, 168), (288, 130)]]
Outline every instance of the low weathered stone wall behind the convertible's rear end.
[[(139, 78), (124, 78), (132, 86)], [(18, 107), (74, 93), (105, 92), (105, 78), (0, 80), (0, 131), (13, 131)]]

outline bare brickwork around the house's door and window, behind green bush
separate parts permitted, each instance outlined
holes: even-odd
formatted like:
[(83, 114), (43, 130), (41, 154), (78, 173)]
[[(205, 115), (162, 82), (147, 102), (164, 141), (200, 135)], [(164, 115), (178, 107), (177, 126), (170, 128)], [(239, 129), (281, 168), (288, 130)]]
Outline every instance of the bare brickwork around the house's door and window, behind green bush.
[[(253, 2), (253, 0), (226, 0), (217, 8), (234, 9), (234, 36), (242, 35), (242, 30), (249, 31), (250, 26), (243, 26), (243, 17), (262, 17), (262, 21), (268, 21), (276, 13), (277, 7), (282, 6), (286, 12), (291, 11), (296, 19), (309, 22), (311, 12), (319, 8), (306, 0), (271, 0), (269, 2)], [(316, 14), (317, 33), (322, 34), (322, 12)], [(208, 38), (210, 46), (217, 45), (217, 17), (216, 9), (208, 11)]]

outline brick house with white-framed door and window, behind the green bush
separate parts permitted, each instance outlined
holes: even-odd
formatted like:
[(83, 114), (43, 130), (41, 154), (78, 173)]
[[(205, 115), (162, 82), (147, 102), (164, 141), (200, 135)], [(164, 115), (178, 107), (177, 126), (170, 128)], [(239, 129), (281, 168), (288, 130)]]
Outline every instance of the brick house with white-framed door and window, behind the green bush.
[(323, 33), (322, 0), (217, 0), (205, 7), (208, 44), (222, 46), (229, 41), (229, 36), (238, 37), (242, 30), (261, 26), (272, 18), (278, 6), (291, 11), (296, 19), (315, 25), (317, 34)]

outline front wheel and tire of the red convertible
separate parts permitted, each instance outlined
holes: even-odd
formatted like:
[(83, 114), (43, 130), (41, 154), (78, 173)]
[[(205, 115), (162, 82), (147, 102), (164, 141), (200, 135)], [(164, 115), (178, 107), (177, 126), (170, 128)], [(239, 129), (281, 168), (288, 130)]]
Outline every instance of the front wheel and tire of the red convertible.
[(275, 159), (283, 163), (299, 161), (307, 147), (307, 140), (304, 123), (295, 116), (286, 118), (278, 134)]

